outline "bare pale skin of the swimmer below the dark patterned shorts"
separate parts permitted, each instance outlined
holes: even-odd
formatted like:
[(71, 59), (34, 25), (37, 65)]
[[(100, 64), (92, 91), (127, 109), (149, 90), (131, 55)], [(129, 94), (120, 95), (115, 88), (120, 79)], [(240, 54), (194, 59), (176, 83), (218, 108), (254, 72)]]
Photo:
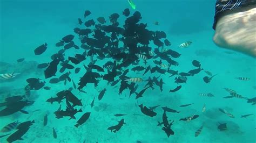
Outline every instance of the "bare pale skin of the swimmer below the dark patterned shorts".
[(213, 41), (256, 58), (256, 5), (227, 10), (218, 20)]

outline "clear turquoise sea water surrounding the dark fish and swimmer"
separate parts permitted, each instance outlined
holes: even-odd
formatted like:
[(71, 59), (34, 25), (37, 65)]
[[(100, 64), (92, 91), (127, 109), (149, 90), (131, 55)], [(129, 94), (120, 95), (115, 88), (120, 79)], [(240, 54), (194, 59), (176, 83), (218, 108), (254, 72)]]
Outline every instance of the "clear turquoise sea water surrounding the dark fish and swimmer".
[[(198, 60), (205, 70), (218, 74), (213, 80), (206, 84), (203, 77), (204, 71), (189, 77), (186, 84), (174, 93), (177, 84), (174, 77), (169, 78), (169, 74), (161, 75), (165, 84), (163, 91), (159, 87), (154, 90), (146, 90), (142, 98), (134, 99), (135, 95), (129, 98), (129, 90), (124, 90), (122, 95), (118, 95), (120, 83), (117, 87), (107, 85), (106, 81), (100, 81), (97, 88), (93, 84), (87, 84), (83, 89), (84, 94), (73, 89), (72, 93), (82, 99), (82, 110), (76, 114), (76, 120), (69, 120), (68, 117), (61, 119), (55, 118), (53, 112), (59, 108), (58, 103), (50, 104), (45, 102), (50, 97), (55, 97), (58, 91), (67, 90), (72, 87), (72, 82), (66, 85), (63, 82), (50, 84), (49, 79), (45, 79), (43, 69), (37, 69), (38, 63), (50, 62), (50, 56), (57, 53), (61, 47), (55, 47), (56, 42), (65, 35), (74, 34), (73, 28), (83, 27), (78, 25), (77, 18), (83, 18), (84, 11), (90, 10), (89, 19), (98, 17), (108, 17), (112, 13), (119, 13), (119, 26), (124, 24), (125, 17), (122, 11), (130, 8), (127, 1), (0, 1), (0, 61), (9, 63), (8, 66), (1, 66), (0, 74), (21, 73), (12, 80), (1, 80), (0, 83), (0, 102), (8, 96), (24, 94), (24, 87), (27, 78), (39, 77), (46, 81), (45, 86), (51, 90), (32, 90), (30, 100), (35, 101), (31, 106), (24, 108), (29, 114), (21, 112), (10, 116), (0, 117), (0, 128), (16, 120), (23, 122), (35, 120), (29, 131), (22, 137), (24, 140), (16, 142), (255, 142), (255, 105), (246, 103), (245, 99), (230, 98), (224, 88), (230, 88), (239, 94), (253, 98), (256, 94), (255, 82), (255, 59), (250, 56), (240, 54), (227, 49), (222, 49), (214, 45), (212, 36), (212, 23), (214, 17), (215, 1), (143, 1), (134, 0), (136, 10), (142, 14), (140, 23), (147, 23), (147, 29), (152, 31), (165, 31), (167, 39), (172, 43), (171, 49), (177, 51), (181, 56), (177, 60), (179, 66), (171, 69), (187, 72), (194, 69), (191, 62)], [(131, 10), (131, 14), (134, 10)], [(159, 26), (154, 25), (159, 22)], [(76, 35), (75, 43), (79, 46), (80, 42)], [(188, 48), (178, 48), (178, 45), (185, 41), (192, 41)], [(44, 42), (47, 42), (48, 49), (42, 55), (35, 55), (34, 49)], [(153, 48), (153, 44), (150, 45)], [(83, 53), (83, 49), (68, 49), (65, 57), (73, 56), (76, 53)], [(17, 63), (17, 59), (25, 58), (25, 61)], [(103, 65), (107, 60), (96, 62)], [(158, 58), (159, 60), (159, 58)], [(88, 65), (90, 58), (83, 61)], [(6, 64), (5, 63), (5, 64)], [(71, 74), (70, 77), (78, 83), (86, 70), (83, 63), (76, 67), (81, 67), (79, 74)], [(153, 65), (152, 60), (147, 63)], [(145, 66), (142, 61), (140, 66)], [(134, 66), (130, 66), (131, 69)], [(67, 70), (66, 70), (67, 71)], [(65, 71), (65, 72), (66, 72)], [(75, 71), (70, 70), (71, 73)], [(159, 76), (160, 74), (147, 73), (142, 76), (143, 71), (134, 73), (129, 71), (129, 77), (142, 77), (147, 79), (149, 76)], [(59, 77), (60, 73), (57, 73)], [(250, 81), (237, 80), (235, 77), (248, 77)], [(117, 77), (116, 77), (117, 78)], [(138, 91), (142, 90), (146, 82), (138, 83)], [(98, 101), (98, 94), (104, 88), (107, 89), (103, 99)], [(211, 92), (214, 97), (202, 97), (198, 94)], [(90, 104), (96, 97), (95, 106)], [(149, 106), (160, 105), (168, 106), (180, 111), (180, 113), (167, 113), (170, 120), (174, 120), (172, 130), (175, 132), (167, 138), (167, 135), (157, 121), (162, 121), (163, 110), (158, 107), (156, 117), (143, 115), (138, 105)], [(180, 108), (182, 104), (194, 103), (191, 106)], [(64, 110), (65, 102), (62, 104)], [(203, 105), (206, 111), (201, 112)], [(218, 109), (225, 109), (231, 112), (235, 118), (230, 118)], [(3, 108), (0, 108), (2, 110)], [(39, 110), (33, 112), (35, 110)], [(90, 118), (82, 126), (76, 128), (76, 121), (85, 113), (91, 112)], [(115, 117), (116, 113), (124, 113), (127, 116)], [(179, 121), (180, 118), (188, 117), (196, 113), (198, 119)], [(248, 118), (240, 118), (241, 115), (253, 113)], [(48, 124), (43, 126), (44, 116), (48, 115)], [(107, 130), (108, 127), (117, 125), (118, 121), (125, 119), (125, 125), (117, 132)], [(219, 123), (227, 123), (226, 131), (219, 131)], [(198, 137), (194, 137), (195, 132), (204, 126)], [(57, 132), (57, 139), (53, 138), (52, 128)], [(12, 131), (11, 133), (13, 133)], [(4, 133), (3, 133), (4, 134)], [(0, 134), (2, 135), (2, 133)], [(6, 142), (7, 137), (0, 138), (0, 142)]]

